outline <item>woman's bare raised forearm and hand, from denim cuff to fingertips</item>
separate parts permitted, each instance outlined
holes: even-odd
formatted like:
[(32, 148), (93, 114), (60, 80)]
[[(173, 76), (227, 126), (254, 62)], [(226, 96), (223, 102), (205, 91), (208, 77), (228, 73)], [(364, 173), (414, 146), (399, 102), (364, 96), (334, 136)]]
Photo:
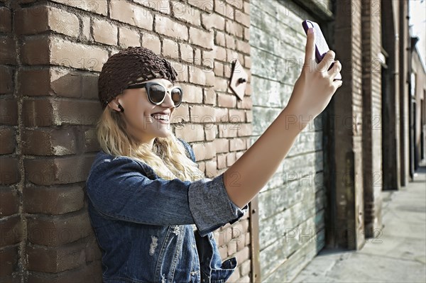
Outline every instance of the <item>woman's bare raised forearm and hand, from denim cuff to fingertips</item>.
[(308, 33), (302, 72), (285, 109), (224, 172), (226, 192), (239, 207), (248, 204), (261, 191), (290, 151), (297, 135), (325, 109), (342, 85), (342, 81), (334, 81), (342, 69), (340, 62), (336, 60), (334, 67), (328, 70), (334, 62), (334, 52), (327, 52), (317, 65), (314, 42), (314, 33)]

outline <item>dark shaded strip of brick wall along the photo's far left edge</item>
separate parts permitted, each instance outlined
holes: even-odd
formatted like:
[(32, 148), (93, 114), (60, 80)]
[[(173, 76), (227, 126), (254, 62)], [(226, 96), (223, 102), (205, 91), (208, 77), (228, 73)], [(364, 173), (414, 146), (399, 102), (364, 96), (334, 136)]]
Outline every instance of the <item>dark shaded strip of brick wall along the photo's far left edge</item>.
[(21, 218), (23, 182), (22, 160), (18, 140), (20, 103), (14, 92), (18, 60), (16, 36), (13, 35), (12, 14), (8, 3), (0, 7), (0, 278), (1, 282), (20, 282), (11, 274), (22, 266)]

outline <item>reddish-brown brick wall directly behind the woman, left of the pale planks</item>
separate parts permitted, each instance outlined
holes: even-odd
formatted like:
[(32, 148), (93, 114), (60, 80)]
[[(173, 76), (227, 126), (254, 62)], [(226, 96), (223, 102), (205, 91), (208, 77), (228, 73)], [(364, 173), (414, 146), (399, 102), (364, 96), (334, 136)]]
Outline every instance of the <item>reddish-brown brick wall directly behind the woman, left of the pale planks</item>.
[[(99, 145), (97, 75), (128, 46), (168, 57), (185, 91), (175, 135), (207, 177), (249, 147), (251, 77), (240, 101), (231, 60), (251, 67), (249, 1), (1, 1), (1, 282), (101, 282), (84, 183)], [(249, 214), (215, 232), (230, 281), (251, 276)]]

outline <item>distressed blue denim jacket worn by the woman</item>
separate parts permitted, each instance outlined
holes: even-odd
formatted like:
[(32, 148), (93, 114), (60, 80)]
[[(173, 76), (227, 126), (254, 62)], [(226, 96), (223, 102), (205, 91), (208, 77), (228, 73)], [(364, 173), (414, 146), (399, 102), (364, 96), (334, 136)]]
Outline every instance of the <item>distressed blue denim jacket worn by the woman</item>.
[(166, 180), (146, 163), (99, 151), (86, 193), (103, 281), (226, 282), (236, 257), (222, 262), (213, 231), (249, 208), (229, 199), (222, 178)]

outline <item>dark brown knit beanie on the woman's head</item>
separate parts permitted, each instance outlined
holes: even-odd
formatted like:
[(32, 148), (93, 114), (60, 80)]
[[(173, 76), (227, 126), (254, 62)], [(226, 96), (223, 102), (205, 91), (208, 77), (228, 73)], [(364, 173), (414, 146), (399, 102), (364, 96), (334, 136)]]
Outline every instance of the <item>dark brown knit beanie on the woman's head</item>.
[(135, 82), (155, 78), (175, 81), (175, 68), (163, 57), (143, 47), (129, 47), (112, 55), (102, 67), (98, 79), (98, 95), (102, 109), (109, 101)]

